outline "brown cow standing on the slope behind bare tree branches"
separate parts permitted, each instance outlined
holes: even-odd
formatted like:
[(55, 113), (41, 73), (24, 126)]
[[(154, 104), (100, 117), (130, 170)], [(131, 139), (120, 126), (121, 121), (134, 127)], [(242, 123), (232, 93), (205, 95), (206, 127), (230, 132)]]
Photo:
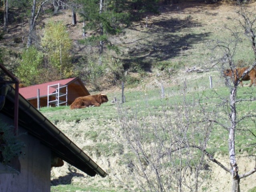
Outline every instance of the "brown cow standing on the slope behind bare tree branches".
[[(235, 78), (235, 82), (238, 80), (238, 78), (240, 78), (242, 76), (242, 74), (245, 72), (245, 70), (248, 69), (248, 67), (243, 67), (243, 68), (236, 68), (234, 69), (234, 78)], [(238, 77), (237, 77), (238, 75)], [(232, 70), (227, 69), (224, 71), (224, 76), (230, 76), (232, 78)], [(254, 84), (254, 86), (256, 85), (256, 70), (253, 68), (248, 74), (246, 74), (246, 76), (244, 76), (244, 78), (242, 78), (241, 80), (241, 85), (244, 86), (242, 81), (248, 81), (251, 80), (249, 87), (252, 86), (252, 84)]]

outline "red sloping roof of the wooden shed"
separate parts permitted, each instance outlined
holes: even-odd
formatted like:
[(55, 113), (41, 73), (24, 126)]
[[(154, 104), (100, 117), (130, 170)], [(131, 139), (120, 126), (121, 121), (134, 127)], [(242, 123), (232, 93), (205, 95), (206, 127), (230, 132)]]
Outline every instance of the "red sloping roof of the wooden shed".
[[(48, 94), (48, 85), (54, 85), (54, 84), (61, 84), (61, 85), (67, 85), (69, 82), (75, 80), (75, 78), (69, 78), (69, 79), (63, 79), (63, 80), (58, 80), (58, 81), (52, 81), (52, 82), (47, 82), (47, 83), (42, 83), (38, 85), (33, 85), (29, 87), (23, 87), (19, 88), (19, 93), (25, 98), (25, 99), (31, 99), (31, 98), (36, 98), (37, 97), (37, 90), (39, 89), (40, 91), (40, 97), (42, 96), (47, 96)], [(56, 89), (54, 88), (49, 88), (49, 93), (55, 92)]]

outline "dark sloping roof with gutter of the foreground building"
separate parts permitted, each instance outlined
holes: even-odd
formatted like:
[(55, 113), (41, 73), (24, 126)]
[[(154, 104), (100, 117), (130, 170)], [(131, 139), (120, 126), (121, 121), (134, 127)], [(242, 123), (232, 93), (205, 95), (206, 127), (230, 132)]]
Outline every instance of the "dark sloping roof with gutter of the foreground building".
[[(15, 90), (9, 84), (2, 84), (0, 86), (6, 86), (7, 89), (5, 103), (0, 113), (14, 118)], [(99, 174), (101, 177), (107, 176), (103, 169), (34, 108), (21, 94), (18, 96), (18, 124), (26, 129), (28, 134), (48, 146), (56, 156), (89, 176), (95, 176), (96, 174)]]

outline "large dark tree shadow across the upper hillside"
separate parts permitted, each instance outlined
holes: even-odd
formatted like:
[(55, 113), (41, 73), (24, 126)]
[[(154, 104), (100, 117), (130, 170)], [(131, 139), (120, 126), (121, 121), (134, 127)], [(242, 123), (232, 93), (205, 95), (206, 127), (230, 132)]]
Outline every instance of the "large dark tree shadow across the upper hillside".
[(147, 30), (140, 30), (139, 27), (133, 29), (144, 35), (143, 38), (123, 43), (122, 46), (126, 49), (122, 55), (125, 58), (124, 67), (136, 63), (149, 71), (152, 65), (150, 61), (165, 61), (179, 56), (181, 51), (183, 56), (192, 54), (185, 50), (205, 41), (211, 32), (196, 33), (190, 28), (203, 26), (200, 22), (192, 20), (191, 16), (185, 19), (161, 17), (148, 26)]

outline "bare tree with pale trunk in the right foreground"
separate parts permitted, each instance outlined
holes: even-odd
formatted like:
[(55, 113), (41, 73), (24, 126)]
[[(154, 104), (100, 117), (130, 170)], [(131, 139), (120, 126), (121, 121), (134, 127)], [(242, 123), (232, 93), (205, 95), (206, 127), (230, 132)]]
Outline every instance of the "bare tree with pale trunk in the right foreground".
[[(254, 97), (251, 97), (249, 99), (238, 99), (237, 98), (237, 90), (238, 85), (241, 82), (241, 80), (256, 66), (256, 46), (255, 46), (255, 27), (256, 27), (256, 15), (252, 12), (248, 12), (244, 7), (241, 7), (240, 10), (237, 12), (238, 18), (235, 20), (238, 21), (240, 26), (242, 26), (243, 32), (239, 32), (238, 28), (230, 29), (226, 28), (230, 34), (232, 39), (227, 41), (216, 41), (216, 46), (214, 46), (214, 49), (218, 49), (218, 51), (222, 52), (222, 57), (218, 60), (218, 64), (222, 65), (222, 68), (228, 67), (232, 71), (232, 82), (228, 82), (228, 87), (230, 89), (230, 96), (229, 100), (226, 101), (226, 107), (228, 108), (227, 114), (228, 114), (228, 120), (229, 120), (229, 126), (226, 127), (226, 130), (228, 130), (228, 149), (229, 149), (229, 161), (230, 161), (230, 168), (225, 167), (224, 165), (220, 164), (216, 159), (212, 158), (211, 160), (215, 163), (217, 163), (219, 166), (221, 166), (225, 171), (229, 172), (232, 175), (232, 192), (240, 192), (240, 180), (242, 178), (246, 178), (247, 176), (250, 176), (254, 172), (256, 172), (256, 166), (244, 173), (244, 174), (238, 174), (239, 168), (238, 168), (238, 162), (236, 160), (237, 153), (235, 150), (235, 140), (236, 140), (236, 131), (238, 130), (238, 124), (239, 122), (242, 122), (242, 120), (252, 120), (252, 117), (255, 117), (254, 114), (249, 115), (243, 115), (238, 118), (238, 104), (241, 102), (250, 102), (255, 101)], [(236, 64), (234, 62), (234, 57), (237, 52), (238, 44), (240, 43), (240, 36), (246, 34), (246, 36), (249, 38), (252, 46), (252, 50), (254, 51), (254, 61), (250, 64), (250, 67), (247, 68), (247, 70), (236, 80), (234, 77), (239, 76), (238, 70), (236, 70)], [(250, 132), (252, 133), (252, 132)], [(253, 135), (255, 137), (255, 135)]]

